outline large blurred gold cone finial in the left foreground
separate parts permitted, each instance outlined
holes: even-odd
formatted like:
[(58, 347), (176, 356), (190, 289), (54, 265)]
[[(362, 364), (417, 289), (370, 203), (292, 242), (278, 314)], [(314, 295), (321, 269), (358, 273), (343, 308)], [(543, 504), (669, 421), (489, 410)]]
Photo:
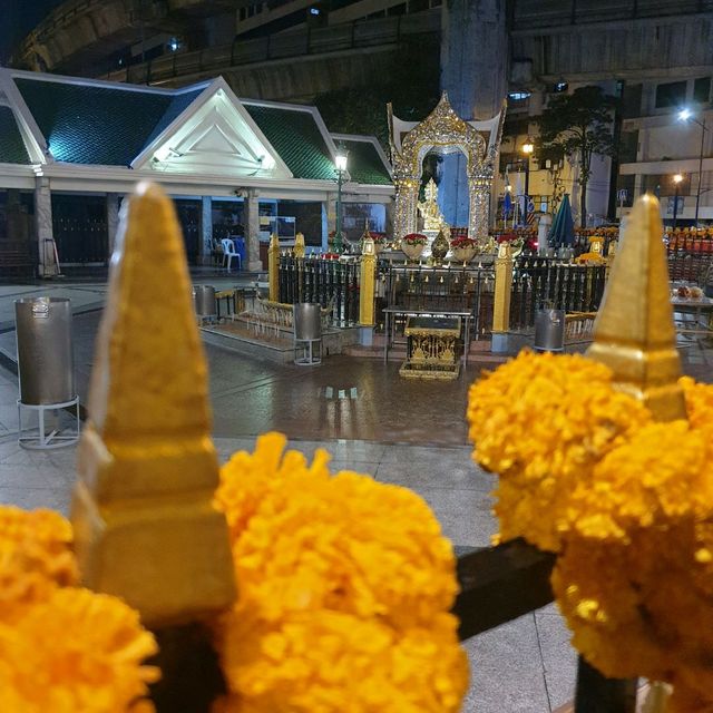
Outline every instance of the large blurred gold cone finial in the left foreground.
[(121, 219), (97, 338), (72, 524), (85, 584), (149, 626), (235, 594), (207, 370), (172, 201), (140, 184)]

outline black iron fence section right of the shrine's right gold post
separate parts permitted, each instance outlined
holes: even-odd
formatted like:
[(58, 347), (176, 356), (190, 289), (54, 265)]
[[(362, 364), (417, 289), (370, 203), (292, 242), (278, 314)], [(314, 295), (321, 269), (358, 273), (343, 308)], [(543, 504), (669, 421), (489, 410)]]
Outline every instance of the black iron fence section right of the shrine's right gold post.
[(535, 325), (543, 306), (596, 312), (606, 283), (605, 265), (576, 265), (549, 257), (518, 257), (512, 270), (510, 329)]

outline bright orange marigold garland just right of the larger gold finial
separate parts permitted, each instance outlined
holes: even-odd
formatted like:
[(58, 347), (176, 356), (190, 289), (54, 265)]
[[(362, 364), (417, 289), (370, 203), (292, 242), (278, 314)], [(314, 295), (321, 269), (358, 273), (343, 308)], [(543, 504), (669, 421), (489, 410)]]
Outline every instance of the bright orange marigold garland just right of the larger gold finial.
[(285, 443), (262, 436), (221, 472), (238, 599), (216, 625), (229, 693), (215, 711), (458, 711), (455, 559), (432, 512)]

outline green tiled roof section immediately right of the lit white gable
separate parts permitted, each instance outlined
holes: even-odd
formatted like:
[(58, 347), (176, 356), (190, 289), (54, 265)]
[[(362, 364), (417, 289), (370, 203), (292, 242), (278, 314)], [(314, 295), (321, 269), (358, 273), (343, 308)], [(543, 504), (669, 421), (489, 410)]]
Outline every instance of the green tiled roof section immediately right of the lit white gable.
[(332, 156), (311, 113), (244, 104), (295, 178), (335, 179)]

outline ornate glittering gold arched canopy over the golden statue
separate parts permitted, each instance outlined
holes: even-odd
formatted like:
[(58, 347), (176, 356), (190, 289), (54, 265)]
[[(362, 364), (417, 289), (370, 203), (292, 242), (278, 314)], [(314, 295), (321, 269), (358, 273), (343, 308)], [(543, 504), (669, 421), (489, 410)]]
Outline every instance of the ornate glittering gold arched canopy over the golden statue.
[(389, 104), (391, 160), (395, 179), (394, 237), (417, 231), (417, 207), (423, 157), (433, 148), (443, 154), (460, 152), (467, 160), (468, 234), (488, 240), (488, 211), (495, 160), (502, 137), (505, 101), (499, 114), (486, 121), (466, 121), (450, 106), (443, 91), (438, 106), (420, 124), (393, 116)]

